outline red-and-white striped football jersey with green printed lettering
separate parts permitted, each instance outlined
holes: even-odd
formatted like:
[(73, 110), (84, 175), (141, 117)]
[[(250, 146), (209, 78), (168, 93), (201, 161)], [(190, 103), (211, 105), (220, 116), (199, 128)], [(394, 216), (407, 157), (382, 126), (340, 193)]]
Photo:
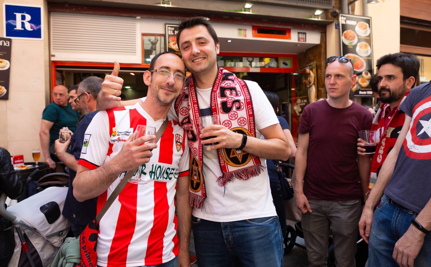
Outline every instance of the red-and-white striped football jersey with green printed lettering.
[[(162, 123), (163, 119), (155, 122), (140, 104), (100, 111), (85, 132), (78, 164), (93, 170), (119, 153), (137, 125), (158, 130)], [(178, 255), (174, 195), (177, 178), (189, 175), (186, 138), (184, 129), (169, 119), (150, 162), (142, 165), (141, 179), (147, 184), (128, 183), (100, 220), (97, 265), (156, 265)], [(121, 173), (98, 197), (97, 212), (124, 176)]]

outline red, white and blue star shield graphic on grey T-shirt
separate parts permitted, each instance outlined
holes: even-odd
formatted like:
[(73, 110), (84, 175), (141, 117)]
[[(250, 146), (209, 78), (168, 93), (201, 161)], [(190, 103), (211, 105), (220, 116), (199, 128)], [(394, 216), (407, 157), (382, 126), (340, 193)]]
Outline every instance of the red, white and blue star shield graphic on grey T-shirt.
[(431, 159), (431, 96), (413, 108), (412, 122), (403, 147), (407, 157)]

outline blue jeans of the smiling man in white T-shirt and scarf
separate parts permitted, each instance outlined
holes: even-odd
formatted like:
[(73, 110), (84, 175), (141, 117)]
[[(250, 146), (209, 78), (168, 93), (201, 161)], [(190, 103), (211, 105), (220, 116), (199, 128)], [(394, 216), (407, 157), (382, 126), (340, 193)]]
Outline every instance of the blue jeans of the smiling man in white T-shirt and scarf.
[(277, 216), (218, 223), (192, 218), (199, 267), (282, 267), (283, 237)]

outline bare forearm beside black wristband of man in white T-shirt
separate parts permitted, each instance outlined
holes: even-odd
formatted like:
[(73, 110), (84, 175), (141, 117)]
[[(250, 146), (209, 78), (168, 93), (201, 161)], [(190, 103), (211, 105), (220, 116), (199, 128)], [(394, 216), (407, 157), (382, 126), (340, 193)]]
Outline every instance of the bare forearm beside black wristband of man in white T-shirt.
[(247, 137), (247, 144), (244, 151), (256, 157), (261, 157), (269, 160), (287, 160), (290, 156), (289, 144), (287, 140), (278, 138), (260, 139)]

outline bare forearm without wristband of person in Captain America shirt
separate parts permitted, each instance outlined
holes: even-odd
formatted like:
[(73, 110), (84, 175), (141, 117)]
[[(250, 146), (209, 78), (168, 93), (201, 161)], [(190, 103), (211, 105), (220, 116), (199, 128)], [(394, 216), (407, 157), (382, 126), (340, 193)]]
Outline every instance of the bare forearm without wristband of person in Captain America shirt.
[[(393, 148), (396, 149), (396, 148)], [(391, 151), (392, 152), (392, 151)], [(395, 162), (397, 161), (398, 153), (389, 153), (381, 166), (380, 173), (377, 177), (377, 181), (373, 186), (373, 189), (368, 196), (365, 206), (368, 208), (374, 208), (377, 202), (383, 195), (384, 188), (386, 188), (387, 183), (394, 173)]]

